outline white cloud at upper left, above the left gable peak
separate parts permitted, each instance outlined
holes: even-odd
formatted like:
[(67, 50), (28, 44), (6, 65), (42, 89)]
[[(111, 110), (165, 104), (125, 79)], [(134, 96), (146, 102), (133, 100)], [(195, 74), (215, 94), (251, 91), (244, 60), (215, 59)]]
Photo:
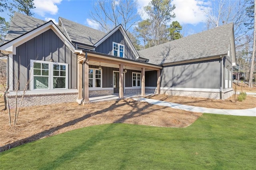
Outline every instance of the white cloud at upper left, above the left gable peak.
[(34, 5), (36, 8), (33, 12), (40, 16), (45, 16), (45, 14), (55, 15), (58, 12), (58, 6), (62, 0), (34, 0)]

